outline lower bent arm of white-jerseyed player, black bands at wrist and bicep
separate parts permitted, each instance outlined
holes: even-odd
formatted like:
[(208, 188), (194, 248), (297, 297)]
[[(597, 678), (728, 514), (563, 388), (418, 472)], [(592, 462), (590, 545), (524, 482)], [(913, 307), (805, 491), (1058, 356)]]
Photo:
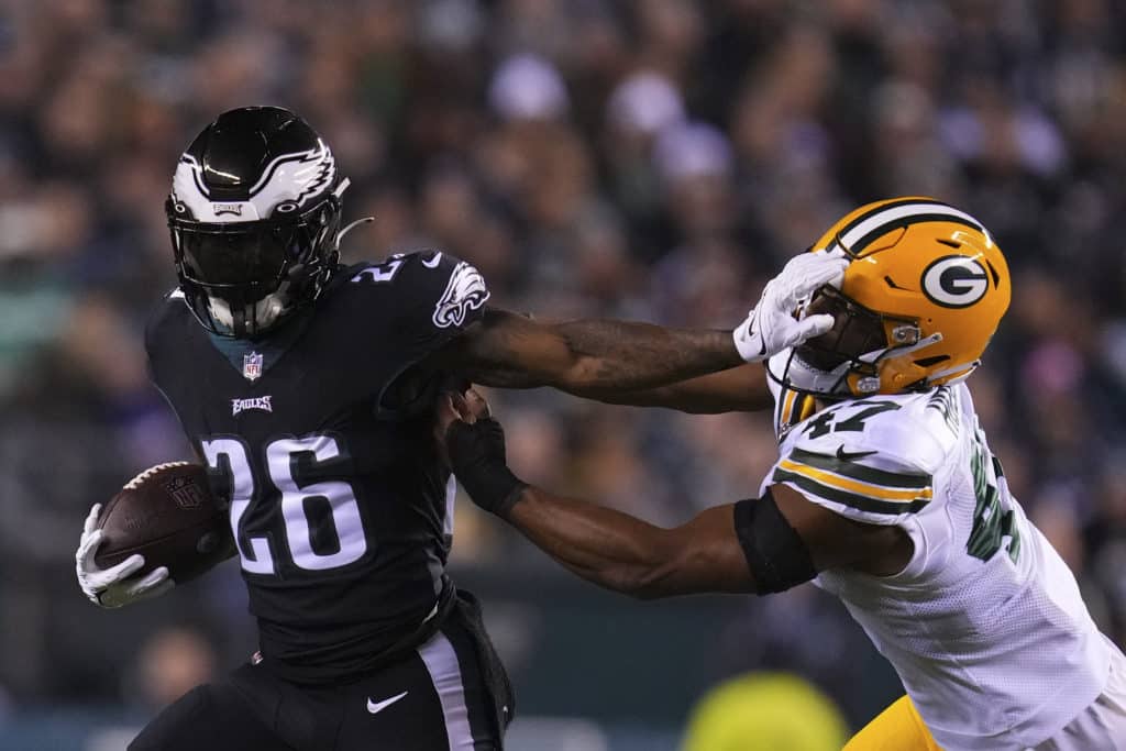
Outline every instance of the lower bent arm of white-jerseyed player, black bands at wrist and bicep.
[[(449, 397), (447, 397), (449, 399)], [(566, 569), (641, 598), (695, 592), (778, 592), (831, 567), (891, 574), (910, 557), (894, 527), (851, 521), (786, 485), (761, 499), (711, 508), (663, 529), (613, 509), (520, 481), (504, 464), (504, 438), (474, 392), (445, 405), (450, 463), (473, 501), (507, 519)], [(465, 417), (472, 422), (455, 419)], [(448, 426), (448, 427), (446, 427)]]

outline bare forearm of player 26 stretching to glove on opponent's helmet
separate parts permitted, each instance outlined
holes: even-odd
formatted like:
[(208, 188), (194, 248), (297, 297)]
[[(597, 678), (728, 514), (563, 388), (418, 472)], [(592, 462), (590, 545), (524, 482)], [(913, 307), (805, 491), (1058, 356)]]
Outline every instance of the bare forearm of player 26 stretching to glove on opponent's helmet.
[(552, 374), (555, 381), (547, 385), (583, 396), (613, 399), (743, 363), (730, 331), (664, 329), (625, 321), (573, 321), (553, 329), (566, 343), (571, 363), (565, 370)]

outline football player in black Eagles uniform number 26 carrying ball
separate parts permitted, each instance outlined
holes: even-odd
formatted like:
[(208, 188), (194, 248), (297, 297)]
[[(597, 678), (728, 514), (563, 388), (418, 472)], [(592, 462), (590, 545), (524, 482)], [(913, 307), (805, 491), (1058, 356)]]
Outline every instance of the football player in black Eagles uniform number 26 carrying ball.
[[(476, 269), (440, 251), (343, 267), (347, 185), (321, 137), (274, 107), (224, 113), (176, 169), (179, 286), (149, 325), (150, 370), (230, 499), (260, 652), (168, 707), (134, 751), (500, 749), (508, 680), (445, 572), (455, 481), (436, 395), (472, 381), (613, 397), (831, 324), (769, 313), (824, 281), (802, 269), (733, 338), (490, 309)], [(77, 556), (87, 596), (167, 591), (166, 569), (136, 574), (141, 556), (97, 567), (98, 512)]]

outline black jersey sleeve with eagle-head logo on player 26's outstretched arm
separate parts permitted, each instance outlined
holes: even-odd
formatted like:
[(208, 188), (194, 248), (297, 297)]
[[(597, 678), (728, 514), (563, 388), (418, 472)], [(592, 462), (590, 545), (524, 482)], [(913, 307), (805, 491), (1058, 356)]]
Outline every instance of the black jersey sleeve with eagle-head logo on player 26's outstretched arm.
[(381, 412), (429, 404), (434, 390), (456, 376), (419, 364), (484, 316), (489, 288), (472, 265), (440, 251), (393, 256), (349, 269), (349, 284), (370, 285), (383, 298), (402, 367), (378, 399)]

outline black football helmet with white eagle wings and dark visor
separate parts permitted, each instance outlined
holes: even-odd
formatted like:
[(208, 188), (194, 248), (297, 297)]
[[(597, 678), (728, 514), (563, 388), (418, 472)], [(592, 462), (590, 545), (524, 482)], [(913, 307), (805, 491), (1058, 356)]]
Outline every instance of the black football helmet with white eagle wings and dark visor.
[(339, 258), (347, 186), (321, 136), (287, 109), (241, 107), (205, 127), (164, 206), (199, 322), (253, 338), (315, 299)]

